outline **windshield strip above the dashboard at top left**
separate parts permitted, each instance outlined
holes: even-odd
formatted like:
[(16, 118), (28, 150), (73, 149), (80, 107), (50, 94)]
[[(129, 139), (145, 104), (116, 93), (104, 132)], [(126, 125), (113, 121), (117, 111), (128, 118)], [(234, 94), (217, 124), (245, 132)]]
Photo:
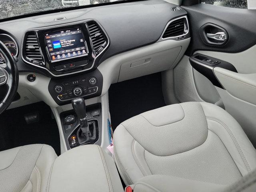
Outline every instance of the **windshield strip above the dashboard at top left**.
[(0, 19), (54, 9), (122, 0), (0, 0)]

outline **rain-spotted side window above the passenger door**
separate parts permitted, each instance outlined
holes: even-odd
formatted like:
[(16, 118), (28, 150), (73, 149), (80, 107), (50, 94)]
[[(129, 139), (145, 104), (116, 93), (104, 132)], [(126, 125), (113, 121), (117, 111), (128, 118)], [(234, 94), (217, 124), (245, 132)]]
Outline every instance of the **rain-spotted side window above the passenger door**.
[(248, 8), (247, 0), (201, 0), (201, 3), (230, 7), (230, 8), (240, 8), (240, 9)]

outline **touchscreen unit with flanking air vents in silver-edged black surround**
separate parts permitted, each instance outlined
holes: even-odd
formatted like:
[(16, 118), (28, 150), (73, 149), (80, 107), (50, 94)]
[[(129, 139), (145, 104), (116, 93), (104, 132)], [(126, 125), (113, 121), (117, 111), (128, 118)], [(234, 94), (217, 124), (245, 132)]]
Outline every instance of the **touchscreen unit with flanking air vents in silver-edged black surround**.
[(34, 28), (24, 35), (22, 60), (50, 77), (63, 77), (96, 69), (108, 46), (96, 20)]

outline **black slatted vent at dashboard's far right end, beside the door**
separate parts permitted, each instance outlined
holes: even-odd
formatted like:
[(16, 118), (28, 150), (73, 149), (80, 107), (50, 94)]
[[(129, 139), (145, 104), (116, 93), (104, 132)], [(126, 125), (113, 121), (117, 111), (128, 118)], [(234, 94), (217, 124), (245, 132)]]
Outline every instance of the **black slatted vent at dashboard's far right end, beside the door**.
[(180, 18), (178, 20), (174, 20), (171, 22), (168, 27), (166, 28), (163, 38), (168, 38), (168, 37), (176, 37), (184, 34), (184, 22), (185, 18)]

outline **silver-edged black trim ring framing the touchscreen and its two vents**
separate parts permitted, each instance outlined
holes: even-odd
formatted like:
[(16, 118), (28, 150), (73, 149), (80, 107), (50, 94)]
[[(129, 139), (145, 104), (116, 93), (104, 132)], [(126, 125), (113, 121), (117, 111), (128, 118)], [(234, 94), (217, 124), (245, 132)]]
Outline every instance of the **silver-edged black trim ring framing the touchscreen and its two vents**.
[[(105, 46), (105, 48), (94, 58), (94, 61), (93, 61), (92, 66), (91, 66), (90, 68), (84, 69), (84, 70), (80, 70), (80, 71), (76, 71), (76, 72), (67, 73), (67, 74), (55, 75), (55, 74), (53, 74), (50, 70), (48, 70), (47, 68), (42, 67), (42, 66), (38, 66), (38, 65), (33, 64), (32, 62), (28, 62), (28, 61), (26, 61), (26, 60), (24, 59), (22, 52), (23, 52), (23, 47), (24, 47), (23, 45), (24, 45), (24, 40), (25, 40), (25, 34), (26, 34), (27, 32), (30, 32), (30, 31), (36, 32), (37, 30), (45, 30), (45, 29), (51, 29), (51, 28), (55, 28), (55, 27), (70, 26), (70, 25), (73, 25), (73, 24), (83, 24), (83, 23), (86, 24), (86, 22), (89, 22), (89, 21), (95, 21), (95, 22), (100, 26), (101, 30), (104, 32), (106, 38), (108, 39), (108, 44), (107, 44), (107, 45)], [(36, 35), (37, 35), (37, 33), (36, 33)], [(37, 38), (38, 38), (38, 37), (37, 37)], [(22, 39), (21, 58), (22, 58), (22, 61), (23, 61), (23, 62), (26, 62), (27, 64), (30, 64), (30, 65), (33, 65), (33, 66), (42, 68), (42, 69), (44, 69), (44, 70), (47, 70), (47, 71), (48, 71), (52, 76), (54, 76), (54, 77), (68, 76), (68, 75), (71, 75), (71, 74), (81, 73), (81, 72), (88, 71), (88, 70), (92, 69), (92, 68), (94, 67), (94, 63), (95, 63), (95, 60), (97, 59), (97, 57), (100, 56), (100, 54), (102, 54), (102, 53), (106, 50), (106, 48), (108, 48), (109, 44), (110, 44), (110, 40), (109, 40), (109, 38), (108, 38), (108, 34), (107, 34), (106, 31), (104, 30), (104, 28), (100, 25), (100, 23), (99, 23), (97, 20), (95, 20), (95, 19), (87, 19), (87, 20), (82, 20), (82, 21), (77, 21), (77, 22), (71, 22), (71, 23), (65, 23), (65, 24), (59, 24), (59, 25), (53, 25), (53, 26), (47, 26), (47, 27), (42, 27), (42, 28), (32, 28), (32, 29), (26, 30), (25, 33), (24, 33), (23, 39)], [(41, 52), (41, 54), (42, 54), (41, 46), (40, 46), (40, 52)], [(43, 54), (42, 54), (42, 58), (44, 58)]]

